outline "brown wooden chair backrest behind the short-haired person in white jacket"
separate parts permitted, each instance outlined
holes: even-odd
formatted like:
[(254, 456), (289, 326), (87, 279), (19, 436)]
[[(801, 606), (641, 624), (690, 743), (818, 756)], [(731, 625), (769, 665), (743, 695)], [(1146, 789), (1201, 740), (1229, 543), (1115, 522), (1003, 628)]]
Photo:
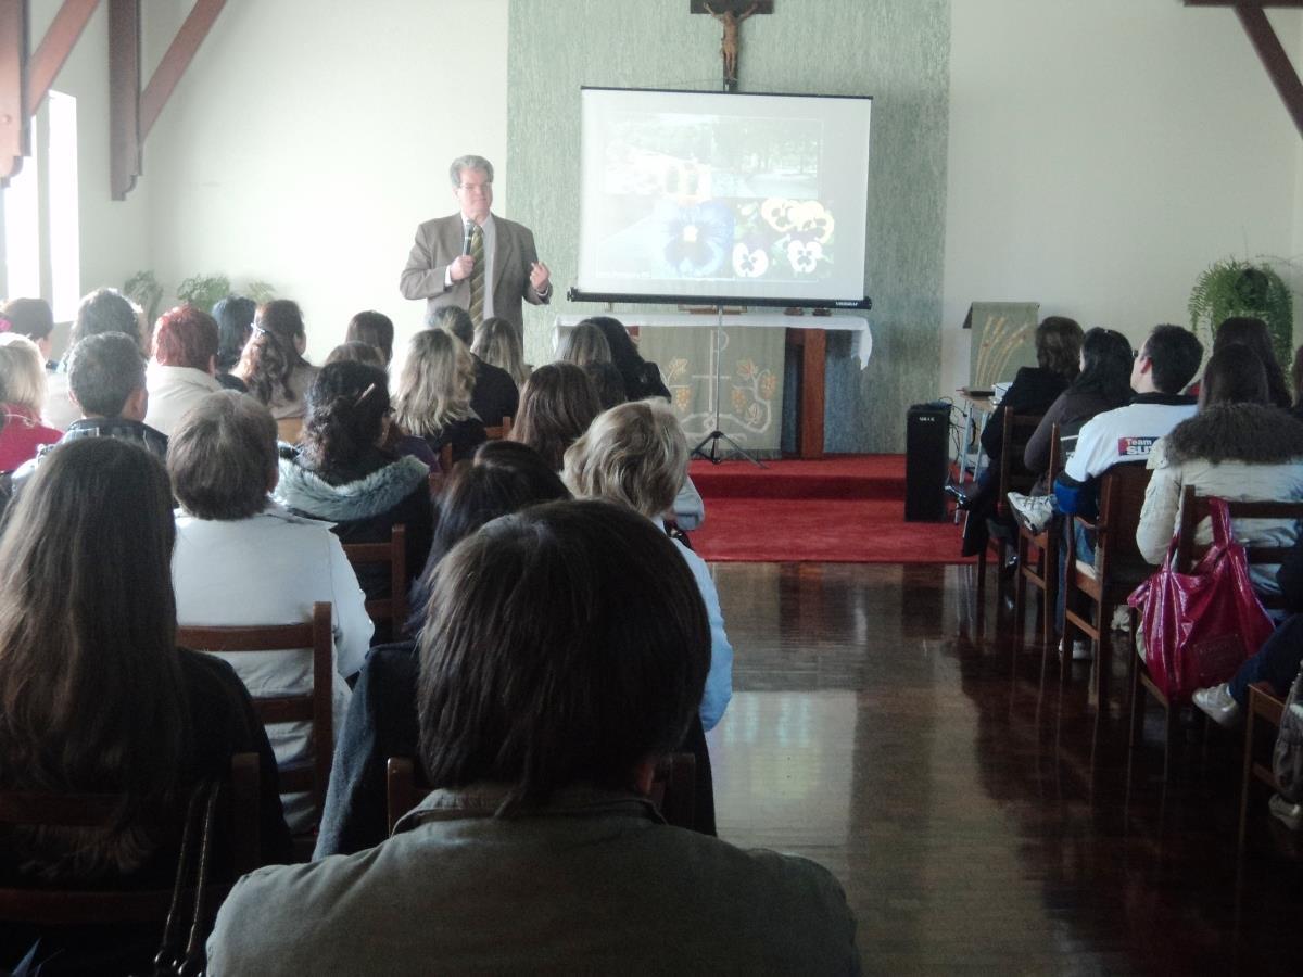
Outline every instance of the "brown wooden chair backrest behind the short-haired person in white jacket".
[(326, 784), (335, 750), (331, 694), (334, 690), (331, 606), (313, 604), (313, 619), (304, 624), (267, 624), (238, 628), (179, 627), (176, 644), (195, 651), (284, 651), (311, 649), (313, 688), (297, 696), (255, 698), (254, 707), (265, 726), (311, 723), (313, 757), (304, 765), (280, 769), (285, 793), (311, 792), (317, 809), (326, 804)]

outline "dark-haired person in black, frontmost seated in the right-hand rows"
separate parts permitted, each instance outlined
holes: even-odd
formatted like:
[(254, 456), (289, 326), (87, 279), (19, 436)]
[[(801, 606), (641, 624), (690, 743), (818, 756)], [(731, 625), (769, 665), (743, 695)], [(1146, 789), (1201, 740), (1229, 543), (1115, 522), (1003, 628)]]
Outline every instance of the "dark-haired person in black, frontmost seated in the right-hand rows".
[(990, 537), (988, 521), (995, 516), (995, 507), (999, 503), (1005, 408), (1012, 408), (1015, 414), (1044, 414), (1076, 379), (1080, 354), (1081, 327), (1074, 319), (1049, 315), (1036, 327), (1036, 366), (1019, 367), (1014, 382), (1001, 397), (999, 408), (981, 432), (981, 447), (989, 461), (977, 478), (976, 491), (966, 504), (968, 518), (964, 522), (964, 556), (985, 550)]

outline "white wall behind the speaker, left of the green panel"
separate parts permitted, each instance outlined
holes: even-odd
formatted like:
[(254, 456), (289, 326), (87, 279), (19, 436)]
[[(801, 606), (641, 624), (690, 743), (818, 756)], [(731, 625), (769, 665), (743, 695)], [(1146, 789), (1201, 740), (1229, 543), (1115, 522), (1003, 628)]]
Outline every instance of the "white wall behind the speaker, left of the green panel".
[(271, 283), (318, 362), (362, 309), (417, 330), (399, 272), (448, 163), (507, 159), (506, 50), (507, 0), (229, 0), (146, 143), (160, 280)]

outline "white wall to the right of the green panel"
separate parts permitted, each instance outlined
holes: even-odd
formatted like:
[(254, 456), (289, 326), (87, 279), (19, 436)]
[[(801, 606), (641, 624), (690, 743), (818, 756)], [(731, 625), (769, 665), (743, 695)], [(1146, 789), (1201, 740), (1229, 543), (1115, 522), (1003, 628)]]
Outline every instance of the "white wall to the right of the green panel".
[[(1300, 47), (1299, 14), (1272, 16)], [(941, 392), (971, 301), (1138, 340), (1197, 274), (1289, 257), (1299, 133), (1235, 16), (1175, 0), (954, 0)]]

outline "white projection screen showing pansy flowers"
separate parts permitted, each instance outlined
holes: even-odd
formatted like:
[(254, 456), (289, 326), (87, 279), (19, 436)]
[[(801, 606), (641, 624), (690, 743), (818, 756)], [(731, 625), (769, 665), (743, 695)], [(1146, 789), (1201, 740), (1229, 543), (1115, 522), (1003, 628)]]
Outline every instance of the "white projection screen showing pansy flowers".
[(585, 87), (572, 297), (865, 307), (860, 96)]

